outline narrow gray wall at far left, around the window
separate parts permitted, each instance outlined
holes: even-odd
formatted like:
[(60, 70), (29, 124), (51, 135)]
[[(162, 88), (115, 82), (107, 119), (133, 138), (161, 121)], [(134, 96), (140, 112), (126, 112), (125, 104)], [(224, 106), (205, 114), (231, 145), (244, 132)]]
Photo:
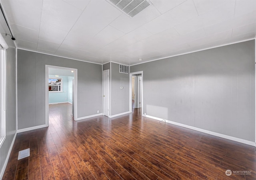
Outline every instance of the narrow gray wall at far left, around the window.
[[(1, 17), (2, 18), (2, 17)], [(3, 18), (2, 18), (3, 20)], [(3, 23), (5, 24), (5, 23)], [(0, 24), (1, 32), (2, 30)], [(6, 32), (8, 32), (6, 30)], [(9, 158), (8, 151), (12, 146), (12, 141), (16, 133), (16, 48), (11, 38), (2, 33), (9, 48), (6, 50), (6, 72), (7, 72), (7, 110), (6, 110), (6, 139), (0, 148), (0, 169), (3, 173), (4, 162)], [(0, 177), (1, 178), (1, 177)]]

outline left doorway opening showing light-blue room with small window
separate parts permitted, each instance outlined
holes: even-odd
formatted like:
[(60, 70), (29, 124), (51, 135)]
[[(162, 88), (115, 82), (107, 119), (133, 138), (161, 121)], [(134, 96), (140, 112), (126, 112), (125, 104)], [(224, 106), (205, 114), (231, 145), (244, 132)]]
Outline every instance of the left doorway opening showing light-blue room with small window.
[(70, 116), (77, 120), (77, 69), (46, 65), (46, 125), (49, 125), (49, 106), (72, 106)]

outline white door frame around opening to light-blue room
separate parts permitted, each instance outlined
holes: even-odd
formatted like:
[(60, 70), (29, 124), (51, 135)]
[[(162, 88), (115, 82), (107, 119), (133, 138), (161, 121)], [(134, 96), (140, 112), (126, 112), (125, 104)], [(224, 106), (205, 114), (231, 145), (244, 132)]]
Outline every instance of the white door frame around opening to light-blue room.
[(49, 88), (48, 88), (48, 78), (49, 78), (49, 68), (62, 69), (62, 70), (74, 70), (74, 121), (77, 121), (77, 69), (68, 67), (59, 67), (52, 65), (45, 65), (45, 124), (49, 126)]

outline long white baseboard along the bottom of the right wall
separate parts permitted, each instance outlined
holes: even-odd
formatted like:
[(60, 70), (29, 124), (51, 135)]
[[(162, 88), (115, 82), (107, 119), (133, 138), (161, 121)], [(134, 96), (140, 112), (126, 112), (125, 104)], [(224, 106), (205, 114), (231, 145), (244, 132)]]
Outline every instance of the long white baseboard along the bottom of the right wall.
[[(159, 121), (163, 120), (161, 118), (154, 117), (154, 116), (151, 116), (151, 115), (144, 115), (143, 114), (142, 116), (149, 117), (149, 118), (152, 118), (152, 119), (156, 119), (156, 120), (159, 120)], [(174, 121), (166, 120), (166, 123), (178, 125), (178, 126), (181, 126), (181, 127), (186, 127), (188, 129), (192, 129), (192, 130), (195, 130), (195, 131), (200, 131), (202, 133), (222, 137), (222, 138), (229, 139), (229, 140), (232, 140), (232, 141), (236, 141), (236, 142), (239, 142), (239, 143), (244, 143), (244, 144), (247, 144), (247, 145), (256, 146), (255, 142), (248, 141), (248, 140), (245, 140), (245, 139), (240, 139), (240, 138), (237, 138), (237, 137), (232, 137), (232, 136), (229, 136), (229, 135), (224, 135), (224, 134), (216, 133), (216, 132), (213, 132), (213, 131), (208, 131), (208, 130), (205, 130), (205, 129), (201, 129), (201, 128), (198, 128), (198, 127), (193, 127), (193, 126), (182, 124), (182, 123), (177, 123), (177, 122), (174, 122)]]

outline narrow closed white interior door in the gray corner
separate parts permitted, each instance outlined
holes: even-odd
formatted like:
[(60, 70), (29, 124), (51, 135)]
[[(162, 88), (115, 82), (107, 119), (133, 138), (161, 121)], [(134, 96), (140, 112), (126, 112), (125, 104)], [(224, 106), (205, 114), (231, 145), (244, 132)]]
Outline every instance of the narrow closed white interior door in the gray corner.
[(109, 70), (103, 71), (103, 115), (109, 116)]

